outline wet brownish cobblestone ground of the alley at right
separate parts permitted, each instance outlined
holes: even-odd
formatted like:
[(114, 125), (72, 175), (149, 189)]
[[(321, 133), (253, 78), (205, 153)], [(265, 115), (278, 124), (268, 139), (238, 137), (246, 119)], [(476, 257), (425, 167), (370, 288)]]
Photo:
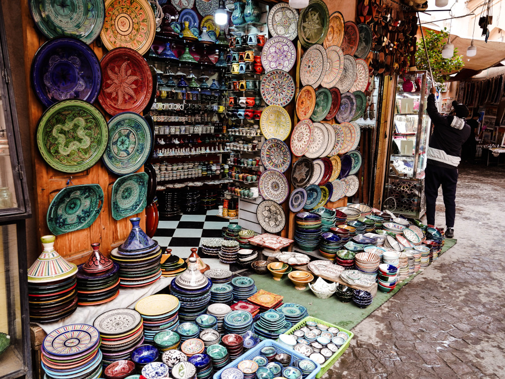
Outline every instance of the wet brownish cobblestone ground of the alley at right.
[(352, 330), (324, 378), (505, 378), (504, 197), (503, 167), (460, 168), (458, 243)]

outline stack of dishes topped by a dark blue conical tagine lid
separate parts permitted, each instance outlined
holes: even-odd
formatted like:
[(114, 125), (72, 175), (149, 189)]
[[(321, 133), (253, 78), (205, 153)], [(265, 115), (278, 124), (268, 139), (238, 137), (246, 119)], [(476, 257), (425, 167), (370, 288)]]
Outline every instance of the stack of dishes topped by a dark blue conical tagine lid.
[(120, 286), (127, 288), (149, 286), (161, 277), (161, 248), (140, 228), (140, 218), (130, 218), (132, 229), (126, 241), (111, 252), (119, 264)]

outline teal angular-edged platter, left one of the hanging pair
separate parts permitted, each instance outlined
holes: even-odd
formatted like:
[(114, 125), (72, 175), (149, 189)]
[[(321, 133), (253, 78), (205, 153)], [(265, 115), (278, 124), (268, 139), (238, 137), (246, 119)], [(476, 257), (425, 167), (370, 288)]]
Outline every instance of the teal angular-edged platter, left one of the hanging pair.
[(47, 227), (54, 235), (86, 229), (96, 220), (104, 205), (104, 191), (98, 184), (63, 188), (49, 204)]

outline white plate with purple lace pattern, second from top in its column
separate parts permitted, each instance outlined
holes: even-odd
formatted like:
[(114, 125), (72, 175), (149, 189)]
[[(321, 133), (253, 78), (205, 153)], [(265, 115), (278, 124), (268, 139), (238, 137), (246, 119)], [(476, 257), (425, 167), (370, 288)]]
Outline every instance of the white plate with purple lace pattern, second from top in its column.
[(261, 64), (265, 72), (272, 70), (289, 71), (296, 62), (296, 49), (286, 37), (272, 37), (267, 40), (261, 51)]

